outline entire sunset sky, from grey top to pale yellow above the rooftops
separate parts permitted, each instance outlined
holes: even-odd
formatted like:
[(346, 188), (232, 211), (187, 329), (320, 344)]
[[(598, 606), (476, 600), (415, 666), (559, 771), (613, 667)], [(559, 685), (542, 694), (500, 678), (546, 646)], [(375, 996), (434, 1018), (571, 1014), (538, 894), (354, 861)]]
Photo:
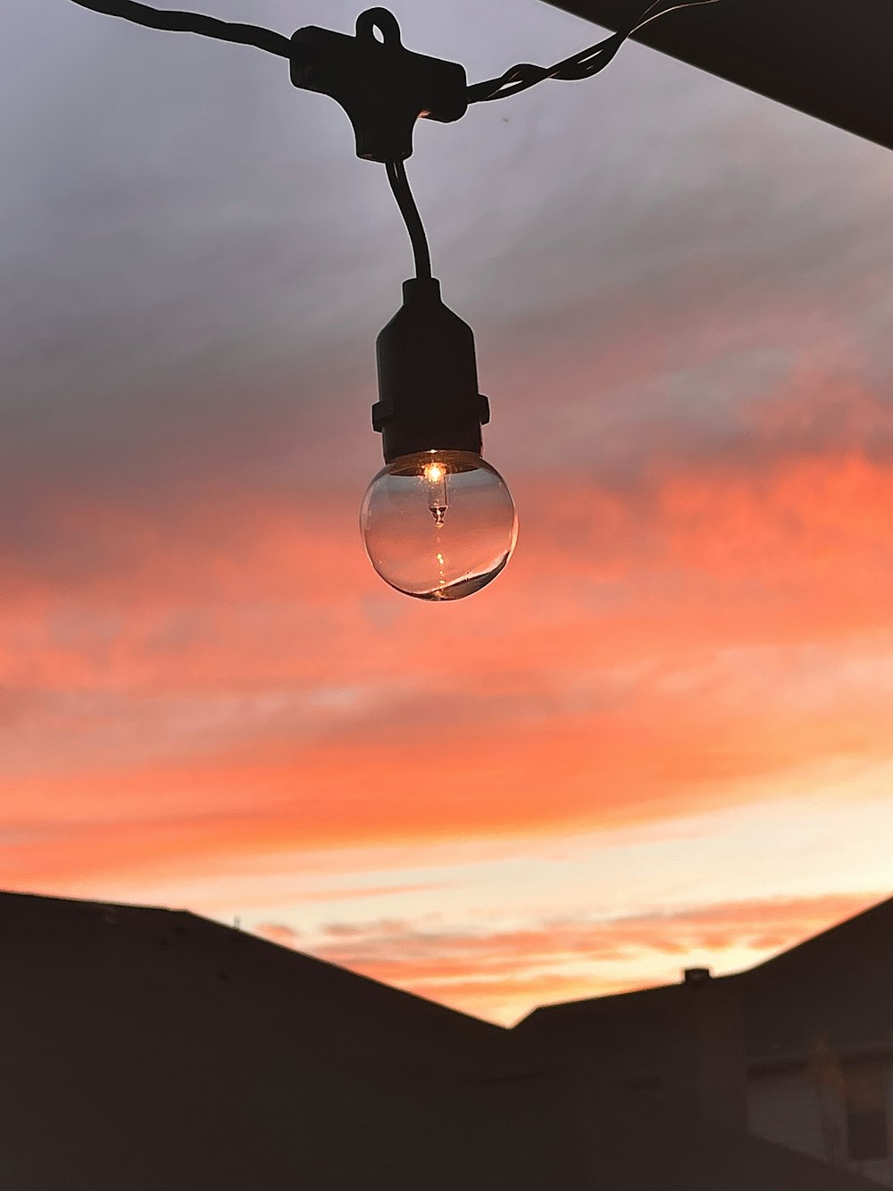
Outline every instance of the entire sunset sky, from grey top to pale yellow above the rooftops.
[[(472, 81), (599, 36), (393, 8)], [(423, 124), (520, 523), (430, 605), (357, 528), (411, 257), (342, 111), (69, 0), (4, 31), (0, 886), (504, 1023), (893, 893), (893, 155), (635, 45)]]

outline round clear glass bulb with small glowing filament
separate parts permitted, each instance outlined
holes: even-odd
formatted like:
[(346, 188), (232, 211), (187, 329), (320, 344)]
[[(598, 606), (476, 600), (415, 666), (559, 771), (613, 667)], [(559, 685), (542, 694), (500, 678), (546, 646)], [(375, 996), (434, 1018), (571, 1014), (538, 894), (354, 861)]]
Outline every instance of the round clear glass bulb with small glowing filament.
[(518, 537), (505, 480), (470, 451), (404, 455), (383, 467), (360, 510), (366, 553), (396, 591), (462, 599), (512, 556)]

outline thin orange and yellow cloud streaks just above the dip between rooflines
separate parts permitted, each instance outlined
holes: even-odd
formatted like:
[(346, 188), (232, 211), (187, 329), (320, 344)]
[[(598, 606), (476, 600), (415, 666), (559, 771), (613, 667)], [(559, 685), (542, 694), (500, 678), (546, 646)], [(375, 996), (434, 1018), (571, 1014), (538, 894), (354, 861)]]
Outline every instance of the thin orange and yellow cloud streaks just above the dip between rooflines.
[[(874, 893), (754, 899), (474, 934), (400, 921), (345, 923), (294, 944), (466, 1012), (508, 1021), (537, 1004), (676, 979), (691, 956), (708, 956), (726, 971), (730, 954), (733, 967), (742, 953), (756, 962), (879, 899)], [(618, 977), (624, 966), (630, 974)]]

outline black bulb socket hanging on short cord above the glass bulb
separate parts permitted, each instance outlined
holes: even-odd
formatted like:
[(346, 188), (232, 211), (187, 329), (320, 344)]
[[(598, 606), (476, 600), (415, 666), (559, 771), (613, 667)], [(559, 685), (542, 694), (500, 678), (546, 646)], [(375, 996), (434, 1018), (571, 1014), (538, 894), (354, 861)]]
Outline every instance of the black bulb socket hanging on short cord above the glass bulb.
[(373, 429), (385, 462), (429, 450), (481, 454), (489, 403), (477, 392), (472, 328), (441, 300), (436, 278), (404, 281), (404, 304), (375, 342)]

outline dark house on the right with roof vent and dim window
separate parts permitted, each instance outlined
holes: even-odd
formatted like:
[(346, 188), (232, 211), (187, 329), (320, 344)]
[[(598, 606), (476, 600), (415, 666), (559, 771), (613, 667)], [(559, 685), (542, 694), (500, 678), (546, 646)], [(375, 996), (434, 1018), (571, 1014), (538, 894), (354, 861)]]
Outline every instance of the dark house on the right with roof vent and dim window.
[(893, 1186), (893, 899), (747, 972), (547, 1005), (516, 1031), (605, 1090)]

